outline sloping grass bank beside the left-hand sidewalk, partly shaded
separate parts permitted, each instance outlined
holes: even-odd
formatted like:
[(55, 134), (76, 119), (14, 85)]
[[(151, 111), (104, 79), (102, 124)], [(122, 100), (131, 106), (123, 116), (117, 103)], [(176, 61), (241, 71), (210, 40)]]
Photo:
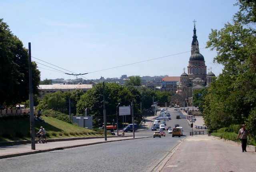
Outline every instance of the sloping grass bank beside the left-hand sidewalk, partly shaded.
[[(46, 129), (49, 139), (68, 137), (104, 136), (102, 131), (84, 129), (74, 124), (60, 121), (54, 117), (43, 116), (45, 123), (35, 121), (35, 132), (40, 126)], [(29, 118), (0, 119), (0, 141), (30, 140)]]

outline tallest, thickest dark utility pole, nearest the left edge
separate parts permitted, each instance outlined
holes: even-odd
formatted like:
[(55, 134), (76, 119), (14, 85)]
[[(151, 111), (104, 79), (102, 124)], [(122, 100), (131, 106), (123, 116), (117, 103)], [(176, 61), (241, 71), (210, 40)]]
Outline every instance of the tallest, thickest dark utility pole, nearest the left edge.
[(34, 121), (34, 95), (32, 85), (32, 63), (31, 63), (31, 43), (28, 43), (28, 74), (29, 74), (29, 108), (30, 108), (30, 135), (31, 149), (36, 150), (35, 145), (35, 121)]

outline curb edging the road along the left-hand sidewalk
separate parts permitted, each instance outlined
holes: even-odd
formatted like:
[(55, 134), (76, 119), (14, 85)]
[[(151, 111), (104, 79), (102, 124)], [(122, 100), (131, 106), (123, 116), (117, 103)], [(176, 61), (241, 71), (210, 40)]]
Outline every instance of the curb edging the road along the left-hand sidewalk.
[(120, 139), (120, 140), (114, 140), (114, 141), (100, 141), (100, 142), (95, 142), (95, 143), (85, 143), (85, 144), (81, 144), (81, 145), (70, 145), (70, 146), (56, 147), (56, 148), (49, 148), (49, 149), (42, 149), (42, 150), (35, 150), (35, 151), (28, 151), (28, 152), (19, 152), (19, 153), (14, 153), (14, 154), (5, 154), (5, 155), (0, 155), (0, 159), (11, 158), (11, 157), (16, 157), (16, 156), (23, 156), (23, 155), (28, 155), (28, 154), (36, 154), (36, 153), (41, 153), (41, 152), (50, 152), (50, 151), (56, 151), (56, 150), (70, 149), (70, 148), (75, 148), (75, 147), (97, 145), (97, 144), (101, 144), (101, 143), (110, 143), (110, 142), (116, 142), (116, 141), (127, 141), (127, 140), (132, 140), (132, 139), (144, 139), (144, 138), (149, 138), (149, 137)]

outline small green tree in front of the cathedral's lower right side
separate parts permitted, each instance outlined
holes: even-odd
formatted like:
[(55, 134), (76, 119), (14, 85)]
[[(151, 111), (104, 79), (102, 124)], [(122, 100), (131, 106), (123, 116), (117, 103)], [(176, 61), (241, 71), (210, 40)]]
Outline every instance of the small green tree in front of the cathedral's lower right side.
[(203, 106), (204, 106), (204, 101), (207, 94), (208, 94), (207, 88), (194, 90), (193, 92), (193, 104), (194, 106), (198, 106), (201, 112), (204, 110)]

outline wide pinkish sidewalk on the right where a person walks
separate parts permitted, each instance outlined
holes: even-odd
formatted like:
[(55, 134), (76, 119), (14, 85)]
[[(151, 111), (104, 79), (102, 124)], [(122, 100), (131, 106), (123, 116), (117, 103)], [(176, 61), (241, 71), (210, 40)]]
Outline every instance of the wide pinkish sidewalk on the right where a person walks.
[[(255, 147), (242, 152), (241, 145), (208, 135), (187, 137), (173, 151), (161, 172), (255, 172)], [(172, 152), (173, 152), (172, 151)]]

